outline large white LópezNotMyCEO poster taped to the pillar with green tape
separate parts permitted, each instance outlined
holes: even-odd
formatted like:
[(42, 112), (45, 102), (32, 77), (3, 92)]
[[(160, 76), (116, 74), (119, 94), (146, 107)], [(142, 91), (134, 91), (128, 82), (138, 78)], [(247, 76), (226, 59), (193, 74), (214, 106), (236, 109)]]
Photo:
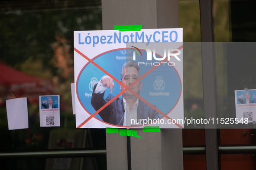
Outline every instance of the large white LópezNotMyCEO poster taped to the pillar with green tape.
[[(182, 37), (182, 28), (74, 31), (76, 127), (184, 127)], [(136, 78), (126, 78), (136, 83), (128, 89), (120, 75), (130, 60), (140, 70), (134, 71)], [(102, 84), (104, 76), (113, 85)], [(103, 87), (98, 91), (97, 85)], [(130, 104), (135, 111), (126, 111), (127, 92), (138, 99)]]

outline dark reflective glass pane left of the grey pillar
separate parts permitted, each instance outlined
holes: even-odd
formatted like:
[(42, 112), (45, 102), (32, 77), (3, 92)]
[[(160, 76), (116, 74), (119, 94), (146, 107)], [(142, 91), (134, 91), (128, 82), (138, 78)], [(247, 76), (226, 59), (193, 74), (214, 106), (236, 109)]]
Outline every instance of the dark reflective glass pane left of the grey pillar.
[[(102, 29), (101, 1), (1, 1), (0, 17), (0, 151), (106, 148), (105, 129), (75, 128), (71, 101), (73, 32)], [(40, 127), (39, 95), (60, 95), (60, 127)], [(29, 128), (8, 130), (6, 100), (21, 97)], [(13, 162), (3, 161), (4, 169), (45, 169), (47, 161)], [(106, 169), (106, 157), (100, 162)]]

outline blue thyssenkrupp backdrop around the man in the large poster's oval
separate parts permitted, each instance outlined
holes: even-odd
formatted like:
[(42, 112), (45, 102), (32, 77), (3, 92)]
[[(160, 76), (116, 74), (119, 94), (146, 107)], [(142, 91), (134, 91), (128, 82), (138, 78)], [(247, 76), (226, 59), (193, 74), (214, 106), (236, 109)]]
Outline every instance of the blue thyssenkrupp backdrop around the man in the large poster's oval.
[[(122, 51), (123, 52), (123, 51)], [(146, 62), (144, 59), (146, 59), (146, 51), (141, 51), (143, 57), (136, 56), (136, 63), (138, 62)], [(132, 54), (132, 53), (130, 53)], [(137, 54), (138, 55), (138, 54)], [(94, 62), (97, 63), (100, 67), (102, 67), (104, 70), (109, 72), (112, 76), (120, 80), (120, 70), (123, 64), (126, 62), (126, 60), (123, 60), (118, 57), (125, 57), (126, 54), (122, 54), (120, 50), (115, 50), (108, 52), (106, 54), (103, 54), (96, 59), (94, 59)], [(124, 58), (125, 59), (125, 58)], [(158, 62), (153, 61), (152, 62)], [(151, 63), (151, 62), (150, 62)], [(141, 76), (146, 73), (149, 69), (151, 69), (153, 66), (150, 65), (140, 65), (141, 69)], [(100, 69), (98, 69), (93, 64), (89, 63), (81, 72), (81, 75), (78, 79), (78, 97), (81, 101), (81, 104), (84, 106), (84, 108), (91, 114), (95, 113), (94, 108), (91, 106), (91, 97), (86, 97), (85, 93), (92, 94), (92, 91), (89, 89), (89, 84), (91, 82), (91, 79), (93, 77), (97, 78), (97, 81), (100, 81), (101, 77), (106, 75), (104, 72), (102, 72)], [(156, 81), (156, 77), (161, 76), (162, 80), (165, 84), (165, 88), (162, 90), (156, 90), (154, 88), (154, 82)], [(142, 80), (142, 91), (140, 92), (140, 96), (144, 98), (146, 101), (148, 101), (150, 104), (155, 105), (159, 110), (161, 110), (163, 113), (168, 113), (176, 104), (180, 90), (180, 79), (175, 71), (175, 69), (172, 66), (159, 66), (154, 71), (150, 72), (147, 76), (145, 76)], [(161, 82), (159, 82), (161, 84)], [(159, 84), (159, 85), (160, 85)], [(112, 95), (115, 96), (118, 93), (120, 93), (120, 85), (114, 81), (114, 88)], [(162, 92), (162, 94), (169, 93), (169, 96), (165, 95), (158, 95), (158, 96), (152, 96), (151, 94), (155, 94), (158, 92)], [(107, 88), (104, 94), (104, 98), (107, 98), (107, 95), (110, 94), (110, 88)], [(121, 98), (121, 96), (119, 97)], [(159, 115), (162, 117), (161, 115)], [(96, 115), (95, 117), (100, 118), (99, 115)]]

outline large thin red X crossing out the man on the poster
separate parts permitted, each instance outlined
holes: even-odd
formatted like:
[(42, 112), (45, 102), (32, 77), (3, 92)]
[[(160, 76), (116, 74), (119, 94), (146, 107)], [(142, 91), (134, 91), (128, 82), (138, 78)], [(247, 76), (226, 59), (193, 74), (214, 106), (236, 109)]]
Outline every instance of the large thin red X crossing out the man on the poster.
[[(181, 48), (183, 47), (183, 45), (181, 45), (181, 47), (179, 47), (178, 49), (181, 50)], [(90, 117), (88, 117), (83, 123), (81, 123), (77, 128), (81, 128), (85, 123), (87, 123), (89, 120), (91, 120), (91, 118), (93, 118), (94, 116), (96, 116), (101, 110), (103, 110), (105, 107), (107, 107), (111, 102), (113, 102), (114, 100), (116, 100), (118, 98), (118, 96), (120, 96), (121, 94), (123, 94), (126, 89), (128, 91), (130, 91), (131, 93), (133, 93), (137, 98), (139, 98), (140, 100), (142, 100), (144, 103), (148, 104), (150, 107), (152, 107), (152, 109), (156, 110), (158, 113), (160, 113), (162, 116), (164, 116), (166, 119), (172, 120), (171, 118), (169, 118), (169, 116), (167, 116), (167, 114), (169, 114), (172, 110), (170, 110), (168, 113), (162, 113), (162, 111), (160, 111), (159, 109), (157, 109), (155, 106), (153, 106), (152, 104), (150, 104), (148, 101), (146, 101), (145, 99), (143, 99), (141, 96), (139, 96), (138, 94), (136, 94), (134, 91), (132, 91), (130, 88), (135, 85), (137, 82), (139, 82), (141, 79), (143, 79), (146, 75), (148, 75), (150, 72), (152, 72), (154, 69), (156, 69), (158, 66), (154, 66), (151, 69), (149, 69), (149, 71), (147, 71), (145, 74), (143, 74), (142, 76), (139, 77), (139, 79), (137, 79), (136, 81), (134, 81), (131, 85), (127, 86), (124, 85), (122, 82), (120, 82), (119, 80), (117, 80), (114, 76), (112, 76), (110, 73), (108, 73), (106, 70), (102, 69), (99, 65), (97, 65), (93, 60), (89, 59), (88, 57), (86, 57), (84, 54), (82, 54), (79, 50), (77, 50), (74, 47), (74, 50), (80, 54), (82, 57), (84, 57), (86, 60), (88, 60), (90, 63), (92, 63), (94, 66), (96, 66), (98, 69), (100, 69), (101, 71), (103, 71), (105, 74), (107, 74), (108, 76), (110, 76), (113, 80), (115, 80), (118, 84), (122, 85), (124, 87), (123, 91), (121, 91), (120, 93), (118, 93), (114, 98), (112, 98), (110, 101), (108, 101), (106, 104), (104, 104), (104, 106), (102, 106), (99, 110), (97, 110), (95, 113), (93, 113)], [(172, 54), (177, 53), (178, 51), (174, 51), (172, 52)], [(166, 61), (168, 58), (165, 57), (165, 59), (163, 61)], [(181, 83), (181, 82), (180, 82)], [(178, 98), (179, 101), (180, 97)], [(178, 103), (177, 101), (177, 103)], [(176, 104), (177, 104), (176, 103)], [(175, 104), (175, 106), (176, 106)], [(175, 107), (174, 106), (174, 107)], [(173, 107), (173, 108), (174, 108)], [(183, 128), (181, 125), (179, 125), (178, 123), (175, 123), (176, 126), (178, 126), (179, 128)], [(128, 127), (128, 126), (127, 126)], [(134, 127), (134, 126), (133, 126)]]

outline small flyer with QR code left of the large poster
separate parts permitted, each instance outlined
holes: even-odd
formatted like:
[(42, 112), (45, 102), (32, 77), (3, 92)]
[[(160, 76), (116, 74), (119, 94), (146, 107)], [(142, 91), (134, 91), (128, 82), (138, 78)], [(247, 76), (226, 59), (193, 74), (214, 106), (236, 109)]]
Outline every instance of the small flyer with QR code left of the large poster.
[(39, 96), (40, 127), (60, 126), (59, 95)]

